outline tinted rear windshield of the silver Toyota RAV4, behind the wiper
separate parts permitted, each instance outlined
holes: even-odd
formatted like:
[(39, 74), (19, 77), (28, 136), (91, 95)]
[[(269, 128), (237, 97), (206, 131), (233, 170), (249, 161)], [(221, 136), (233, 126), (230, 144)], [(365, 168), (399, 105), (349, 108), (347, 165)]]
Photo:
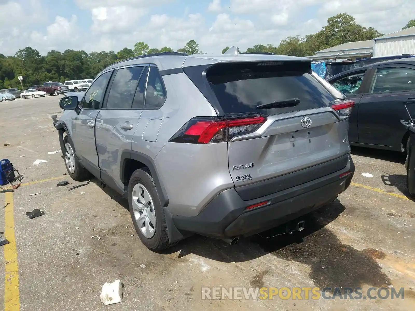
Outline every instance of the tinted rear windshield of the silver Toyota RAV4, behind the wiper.
[[(294, 70), (294, 71), (292, 71)], [(206, 77), (225, 114), (266, 115), (327, 107), (334, 96), (309, 72), (310, 63), (263, 66), (261, 63), (217, 65)], [(260, 104), (298, 98), (294, 107), (256, 109)]]

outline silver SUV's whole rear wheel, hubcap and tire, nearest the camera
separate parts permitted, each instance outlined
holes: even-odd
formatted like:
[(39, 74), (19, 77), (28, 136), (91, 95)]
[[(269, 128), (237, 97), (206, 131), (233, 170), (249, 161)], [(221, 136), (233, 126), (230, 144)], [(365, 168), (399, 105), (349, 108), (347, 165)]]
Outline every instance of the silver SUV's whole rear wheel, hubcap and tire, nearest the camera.
[(128, 205), (135, 231), (150, 250), (164, 250), (168, 242), (166, 216), (153, 177), (147, 168), (136, 170), (129, 180)]

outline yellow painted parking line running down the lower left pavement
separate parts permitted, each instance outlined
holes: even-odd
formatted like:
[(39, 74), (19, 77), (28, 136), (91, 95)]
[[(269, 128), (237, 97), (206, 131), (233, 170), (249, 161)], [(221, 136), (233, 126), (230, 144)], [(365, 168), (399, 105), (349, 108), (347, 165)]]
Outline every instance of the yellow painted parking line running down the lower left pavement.
[[(7, 204), (8, 203), (8, 204)], [(5, 280), (4, 280), (4, 310), (19, 311), (19, 266), (17, 265), (17, 248), (15, 238), (15, 219), (13, 215), (13, 193), (5, 193), (4, 236), (9, 244), (4, 245)]]

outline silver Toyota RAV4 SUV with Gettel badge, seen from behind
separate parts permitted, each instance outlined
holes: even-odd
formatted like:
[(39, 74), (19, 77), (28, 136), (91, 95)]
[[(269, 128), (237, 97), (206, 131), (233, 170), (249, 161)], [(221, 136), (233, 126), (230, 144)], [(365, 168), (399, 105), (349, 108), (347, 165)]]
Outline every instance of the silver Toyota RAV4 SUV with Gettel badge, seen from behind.
[(354, 102), (291, 56), (155, 53), (105, 68), (54, 120), (73, 180), (128, 198), (144, 245), (234, 244), (350, 185)]

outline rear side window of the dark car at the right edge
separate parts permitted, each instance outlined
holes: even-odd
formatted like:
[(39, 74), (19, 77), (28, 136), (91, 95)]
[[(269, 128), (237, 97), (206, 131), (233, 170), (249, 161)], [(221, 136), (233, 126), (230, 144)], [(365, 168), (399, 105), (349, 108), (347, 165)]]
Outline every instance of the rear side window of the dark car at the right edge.
[(378, 68), (371, 85), (371, 93), (415, 90), (415, 70), (404, 67)]

